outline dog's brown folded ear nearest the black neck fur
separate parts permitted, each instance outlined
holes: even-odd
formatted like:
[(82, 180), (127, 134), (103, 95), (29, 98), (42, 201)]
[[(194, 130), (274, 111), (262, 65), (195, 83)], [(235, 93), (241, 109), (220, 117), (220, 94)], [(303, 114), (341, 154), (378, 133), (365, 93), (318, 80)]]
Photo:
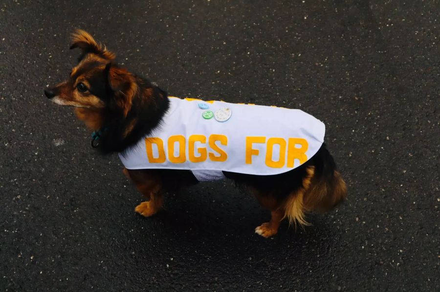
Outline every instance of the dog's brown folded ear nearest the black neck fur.
[(137, 83), (134, 76), (125, 68), (120, 68), (112, 63), (108, 63), (105, 70), (108, 88), (111, 91), (112, 99), (117, 108), (127, 117), (132, 108), (132, 101), (137, 92)]

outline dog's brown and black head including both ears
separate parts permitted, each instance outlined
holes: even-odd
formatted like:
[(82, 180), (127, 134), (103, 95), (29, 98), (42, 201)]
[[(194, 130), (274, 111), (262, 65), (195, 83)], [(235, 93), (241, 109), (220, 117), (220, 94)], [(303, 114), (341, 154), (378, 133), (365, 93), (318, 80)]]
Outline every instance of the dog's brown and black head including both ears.
[(114, 63), (115, 55), (84, 30), (72, 34), (70, 49), (82, 50), (69, 78), (44, 90), (46, 97), (61, 105), (89, 109), (118, 107), (127, 116), (137, 91), (135, 77)]

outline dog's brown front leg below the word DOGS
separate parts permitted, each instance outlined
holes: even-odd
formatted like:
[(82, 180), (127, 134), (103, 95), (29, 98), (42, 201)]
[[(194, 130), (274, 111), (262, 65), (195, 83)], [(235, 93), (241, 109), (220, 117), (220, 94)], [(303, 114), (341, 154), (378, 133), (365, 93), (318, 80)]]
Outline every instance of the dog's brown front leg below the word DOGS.
[(142, 216), (149, 217), (157, 213), (163, 204), (163, 195), (160, 193), (162, 182), (159, 176), (147, 170), (128, 170), (124, 168), (123, 173), (136, 185), (137, 190), (149, 198), (136, 206), (135, 212)]

